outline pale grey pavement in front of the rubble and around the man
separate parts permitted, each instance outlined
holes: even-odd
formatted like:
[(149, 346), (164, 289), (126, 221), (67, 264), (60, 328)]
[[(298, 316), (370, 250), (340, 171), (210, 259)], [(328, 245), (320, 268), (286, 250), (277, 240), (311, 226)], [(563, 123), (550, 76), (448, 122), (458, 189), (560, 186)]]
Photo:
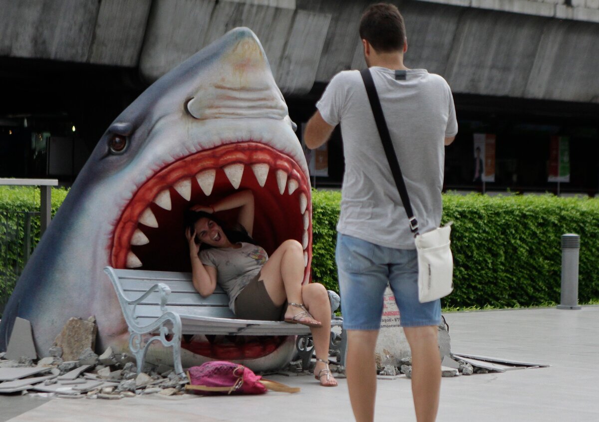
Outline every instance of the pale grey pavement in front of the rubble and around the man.
[[(599, 306), (452, 312), (452, 351), (551, 365), (443, 378), (437, 420), (598, 421)], [(301, 393), (263, 396), (135, 397), (121, 400), (0, 397), (0, 421), (352, 421), (346, 380), (270, 377)], [(410, 381), (379, 380), (377, 421), (415, 421)]]

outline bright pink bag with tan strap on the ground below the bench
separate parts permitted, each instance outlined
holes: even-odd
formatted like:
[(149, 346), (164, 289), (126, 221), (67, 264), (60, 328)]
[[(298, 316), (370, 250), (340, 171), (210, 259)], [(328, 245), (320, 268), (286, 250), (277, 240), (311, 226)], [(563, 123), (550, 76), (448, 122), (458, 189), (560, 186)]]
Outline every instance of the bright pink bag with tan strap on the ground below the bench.
[(264, 380), (249, 368), (226, 360), (192, 366), (187, 371), (187, 391), (199, 394), (264, 394), (268, 390), (298, 393), (299, 387)]

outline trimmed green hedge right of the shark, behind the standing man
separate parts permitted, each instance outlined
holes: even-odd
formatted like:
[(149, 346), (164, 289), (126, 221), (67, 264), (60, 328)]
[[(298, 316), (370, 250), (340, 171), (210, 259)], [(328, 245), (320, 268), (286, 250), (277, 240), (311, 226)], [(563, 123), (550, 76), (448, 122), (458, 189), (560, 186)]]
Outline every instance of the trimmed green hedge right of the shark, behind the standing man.
[[(313, 277), (337, 290), (334, 263), (339, 192), (313, 192)], [(564, 233), (580, 235), (579, 301), (599, 299), (599, 200), (543, 196), (443, 195), (453, 220), (455, 289), (448, 308), (559, 303)], [(338, 291), (338, 290), (337, 290)]]

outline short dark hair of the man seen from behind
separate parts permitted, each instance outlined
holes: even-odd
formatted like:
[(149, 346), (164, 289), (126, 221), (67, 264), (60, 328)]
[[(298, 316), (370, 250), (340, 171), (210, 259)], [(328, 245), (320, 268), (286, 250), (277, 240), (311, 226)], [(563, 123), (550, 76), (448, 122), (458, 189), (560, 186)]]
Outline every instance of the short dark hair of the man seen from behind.
[(360, 38), (370, 42), (378, 53), (401, 51), (406, 41), (404, 17), (395, 5), (370, 5), (360, 20)]

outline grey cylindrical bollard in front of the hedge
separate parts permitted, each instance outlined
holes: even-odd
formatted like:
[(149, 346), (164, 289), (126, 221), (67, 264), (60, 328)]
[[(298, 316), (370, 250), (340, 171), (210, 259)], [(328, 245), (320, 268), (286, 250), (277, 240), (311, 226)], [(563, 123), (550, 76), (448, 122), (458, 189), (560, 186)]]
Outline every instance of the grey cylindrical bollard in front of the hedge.
[(558, 309), (582, 309), (578, 305), (578, 255), (580, 236), (567, 233), (561, 236), (562, 284)]

